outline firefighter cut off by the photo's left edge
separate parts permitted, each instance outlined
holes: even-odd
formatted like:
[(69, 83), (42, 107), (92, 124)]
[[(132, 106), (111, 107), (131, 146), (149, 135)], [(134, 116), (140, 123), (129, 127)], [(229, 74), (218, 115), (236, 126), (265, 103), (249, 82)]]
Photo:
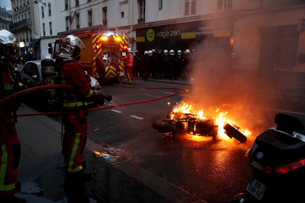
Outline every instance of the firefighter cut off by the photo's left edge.
[[(11, 64), (11, 61), (17, 60), (17, 56), (17, 38), (13, 33), (0, 29), (0, 99), (25, 89), (16, 76), (15, 67)], [(0, 202), (26, 202), (23, 198), (13, 196), (15, 191), (20, 189), (16, 184), (20, 142), (14, 124), (18, 106), (9, 103), (0, 107)]]

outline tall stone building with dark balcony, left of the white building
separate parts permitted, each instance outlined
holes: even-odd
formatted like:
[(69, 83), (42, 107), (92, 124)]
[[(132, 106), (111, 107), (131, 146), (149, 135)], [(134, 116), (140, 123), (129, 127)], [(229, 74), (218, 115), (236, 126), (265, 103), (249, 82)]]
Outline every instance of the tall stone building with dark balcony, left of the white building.
[(11, 0), (13, 24), (9, 30), (20, 41), (20, 55), (40, 59), (38, 9), (34, 0)]

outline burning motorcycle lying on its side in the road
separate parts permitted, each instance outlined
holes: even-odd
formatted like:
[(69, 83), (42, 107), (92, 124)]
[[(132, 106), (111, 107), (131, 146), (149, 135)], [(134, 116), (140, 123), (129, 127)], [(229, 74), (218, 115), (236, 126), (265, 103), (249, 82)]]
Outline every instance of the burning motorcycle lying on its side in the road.
[[(232, 126), (233, 125), (233, 126)], [(224, 125), (226, 135), (235, 138), (239, 142), (246, 142), (247, 137), (238, 131), (239, 127), (235, 124)], [(167, 119), (160, 119), (152, 122), (152, 127), (159, 133), (168, 133), (166, 138), (173, 137), (176, 133), (188, 133), (189, 135), (200, 135), (205, 137), (216, 138), (218, 134), (218, 125), (211, 117), (205, 119), (200, 118), (196, 114), (175, 113), (170, 111)]]

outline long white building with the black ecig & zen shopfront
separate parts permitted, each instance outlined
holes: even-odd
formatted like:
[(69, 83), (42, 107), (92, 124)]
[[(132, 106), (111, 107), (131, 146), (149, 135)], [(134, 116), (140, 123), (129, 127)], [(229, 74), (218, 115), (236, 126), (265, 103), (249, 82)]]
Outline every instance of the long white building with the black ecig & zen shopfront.
[[(133, 42), (130, 47), (140, 53), (156, 47), (192, 50), (209, 41), (223, 47), (227, 69), (305, 73), (302, 24), (305, 0), (42, 2), (46, 6), (41, 3), (38, 6), (39, 14), (44, 16), (40, 19), (40, 30), (41, 37), (47, 38), (41, 45), (42, 58), (51, 57), (47, 44), (54, 42), (58, 33), (104, 25), (107, 30), (128, 34)], [(270, 29), (273, 34), (269, 33)], [(267, 45), (277, 31), (281, 32), (274, 38), (278, 40), (273, 39), (273, 51), (281, 50), (280, 53), (270, 50), (264, 53), (264, 44)], [(292, 47), (289, 46), (291, 40)], [(282, 58), (282, 62), (275, 58)]]

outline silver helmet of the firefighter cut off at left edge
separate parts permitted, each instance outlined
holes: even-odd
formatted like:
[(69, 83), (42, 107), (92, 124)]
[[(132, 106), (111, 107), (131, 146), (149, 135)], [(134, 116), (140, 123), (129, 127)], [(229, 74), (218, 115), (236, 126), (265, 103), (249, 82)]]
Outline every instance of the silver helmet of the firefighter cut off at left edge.
[(17, 60), (18, 39), (8, 30), (0, 29), (0, 55), (7, 59)]

